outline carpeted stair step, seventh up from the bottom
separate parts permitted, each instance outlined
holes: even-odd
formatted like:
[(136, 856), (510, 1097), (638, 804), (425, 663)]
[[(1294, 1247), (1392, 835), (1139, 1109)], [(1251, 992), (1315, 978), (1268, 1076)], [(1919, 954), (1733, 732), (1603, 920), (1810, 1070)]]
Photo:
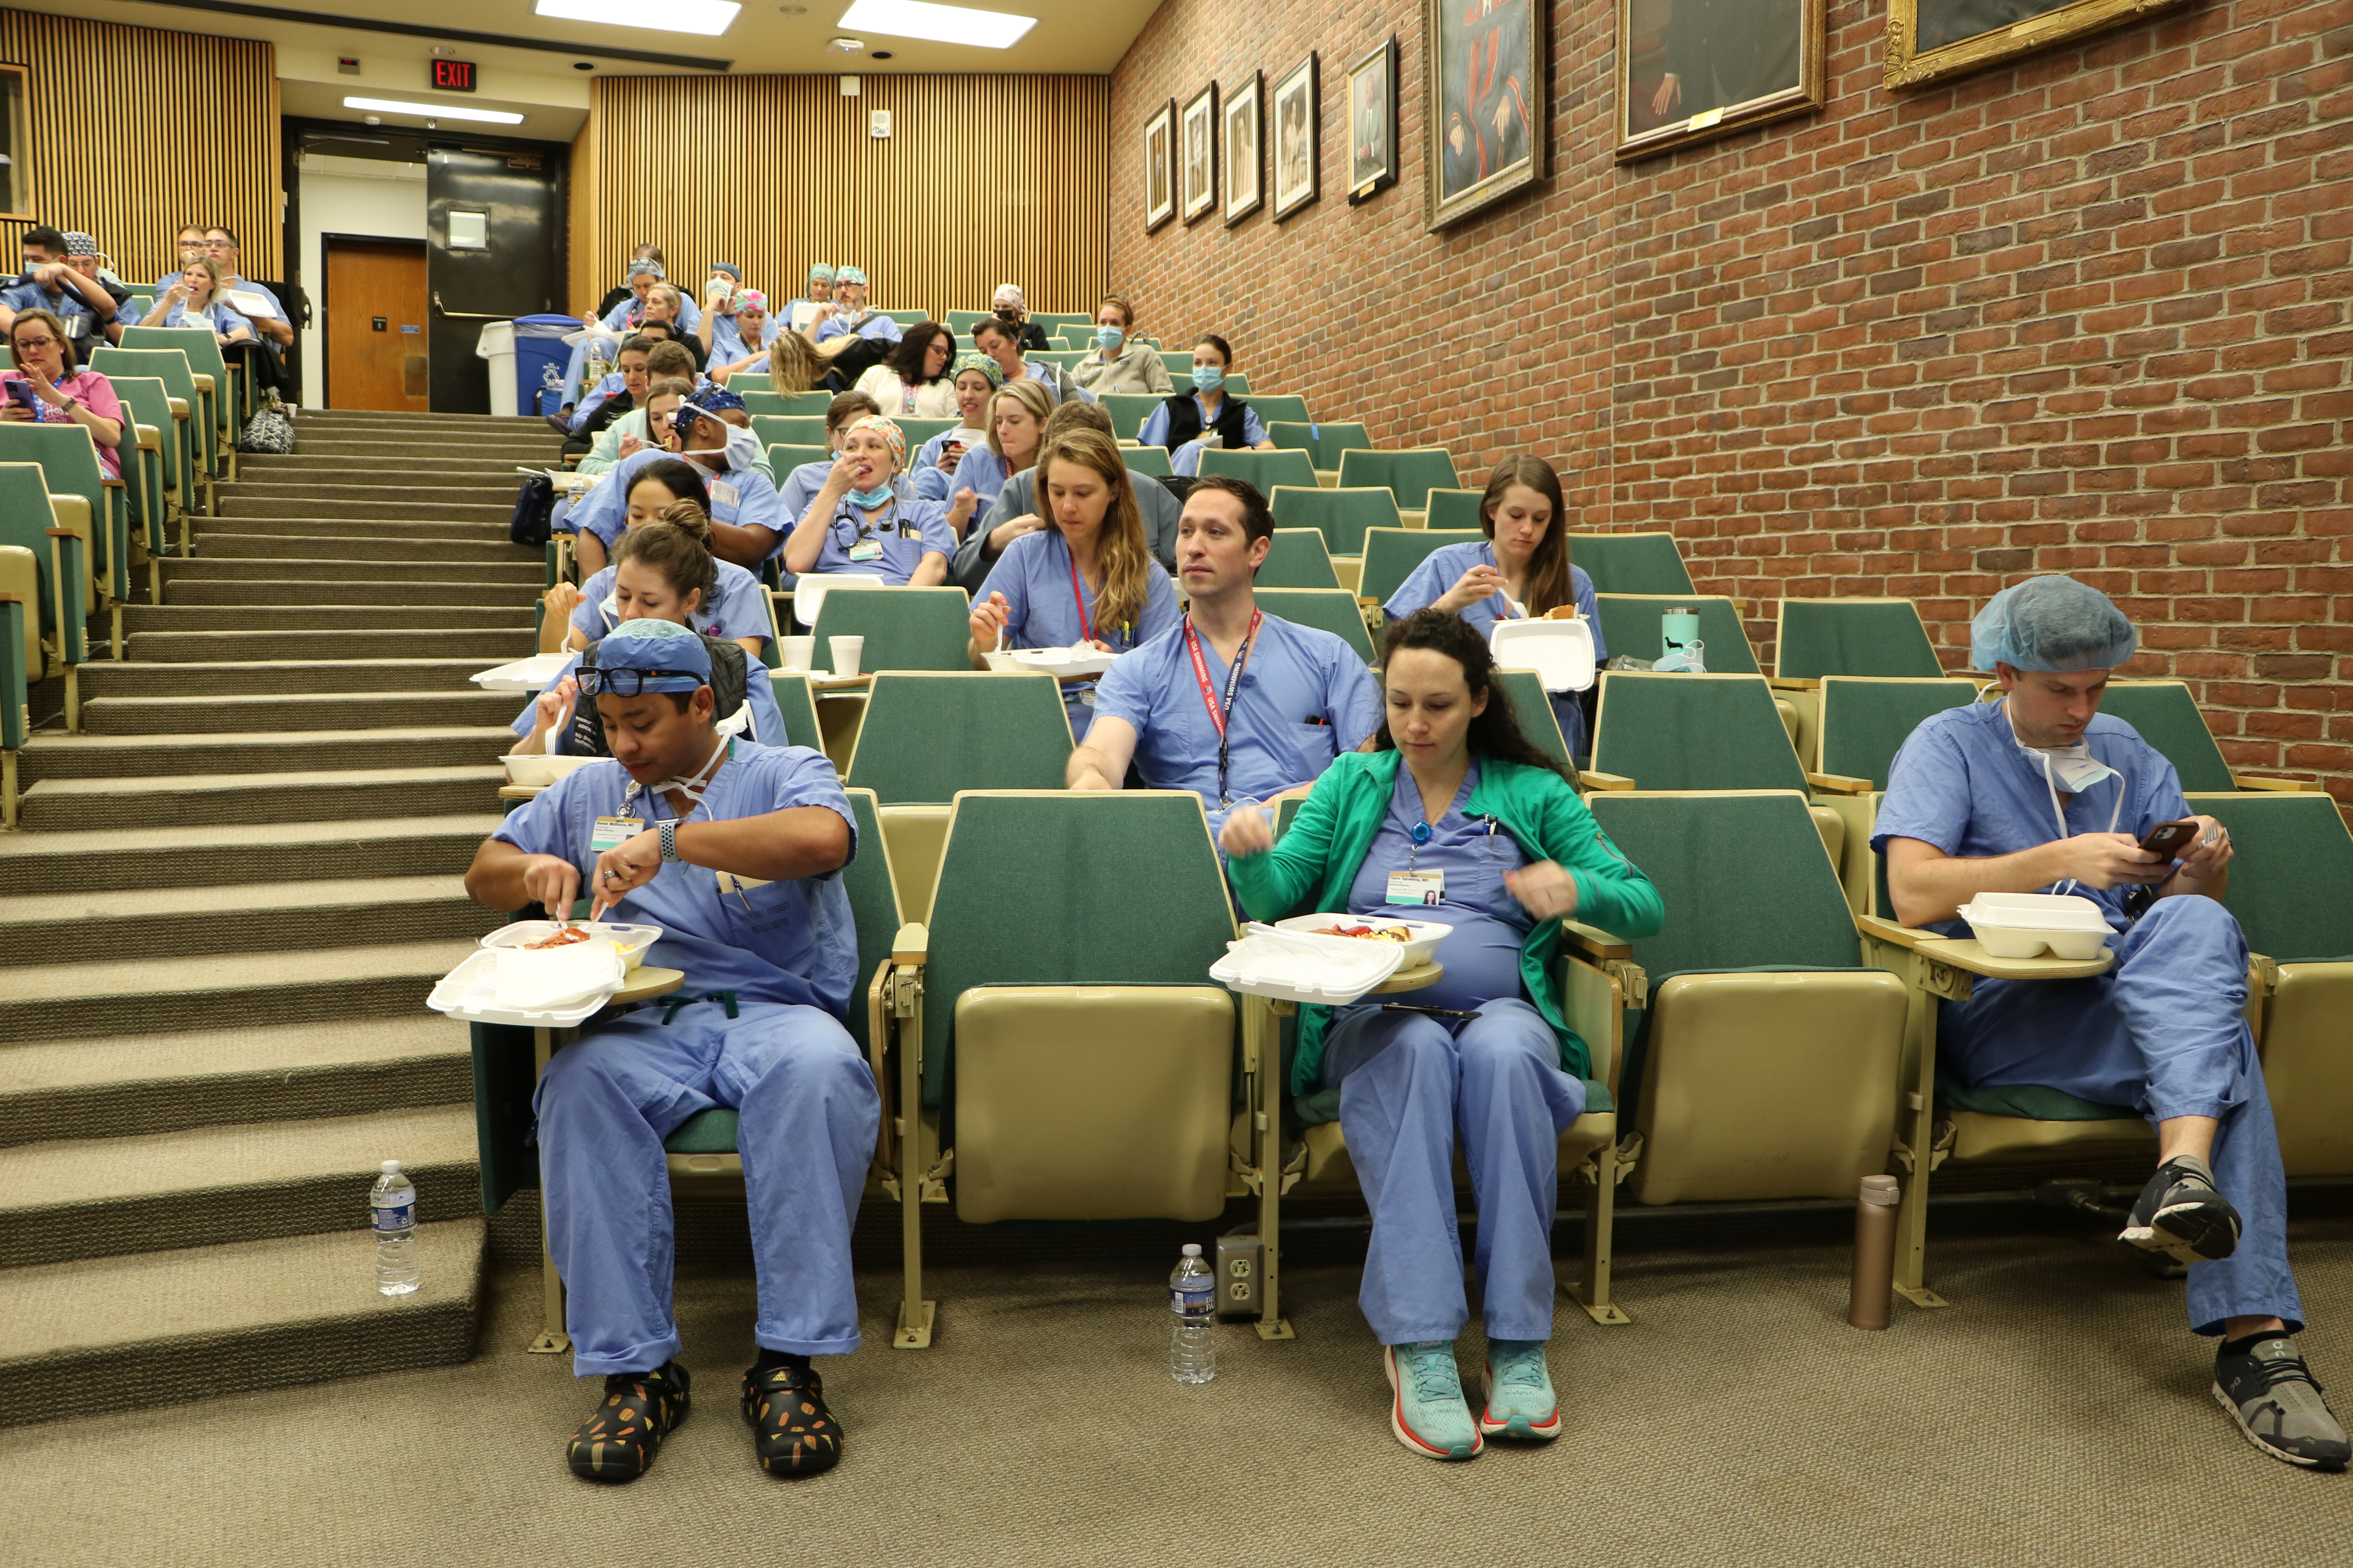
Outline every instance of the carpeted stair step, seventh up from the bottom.
[(499, 766), (45, 778), (19, 797), (19, 820), (28, 832), (89, 832), (169, 823), (212, 827), (454, 816), (496, 802), (504, 783)]

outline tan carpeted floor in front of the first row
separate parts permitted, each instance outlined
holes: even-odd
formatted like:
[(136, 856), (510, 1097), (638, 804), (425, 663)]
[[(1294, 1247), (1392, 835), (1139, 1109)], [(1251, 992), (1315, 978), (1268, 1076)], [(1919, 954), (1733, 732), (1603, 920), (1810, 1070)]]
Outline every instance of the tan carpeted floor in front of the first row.
[[(1626, 1251), (1631, 1328), (1593, 1328), (1562, 1302), (1567, 1434), (1471, 1465), (1417, 1460), (1388, 1436), (1353, 1300), (1360, 1241), (1301, 1239), (1299, 1340), (1228, 1328), (1217, 1382), (1188, 1389), (1165, 1371), (1155, 1246), (1038, 1227), (979, 1253), (958, 1229), (941, 1227), (958, 1260), (932, 1269), (929, 1352), (887, 1349), (896, 1274), (864, 1274), (868, 1349), (821, 1363), (849, 1427), (831, 1476), (753, 1469), (734, 1408), (751, 1279), (713, 1260), (680, 1281), (694, 1415), (645, 1481), (574, 1481), (560, 1441), (593, 1385), (522, 1354), (536, 1272), (513, 1260), (466, 1366), (0, 1432), (7, 1559), (2353, 1561), (2353, 1479), (2254, 1453), (2207, 1394), (2179, 1286), (2049, 1225), (1946, 1239), (1937, 1284), (1960, 1305), (1899, 1305), (1882, 1335), (1845, 1326), (1847, 1260), (1831, 1241)], [(2294, 1241), (2313, 1309), (2346, 1302), (2353, 1220), (2308, 1220)], [(2353, 1333), (2322, 1321), (2306, 1347), (2353, 1392)], [(1475, 1349), (1466, 1335), (1473, 1378)]]

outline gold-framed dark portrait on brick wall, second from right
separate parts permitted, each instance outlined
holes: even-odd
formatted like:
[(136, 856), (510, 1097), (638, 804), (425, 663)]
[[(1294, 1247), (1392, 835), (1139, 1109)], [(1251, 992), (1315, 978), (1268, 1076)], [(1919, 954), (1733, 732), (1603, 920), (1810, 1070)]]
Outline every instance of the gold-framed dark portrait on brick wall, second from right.
[(1824, 0), (1619, 0), (1619, 160), (1821, 108)]

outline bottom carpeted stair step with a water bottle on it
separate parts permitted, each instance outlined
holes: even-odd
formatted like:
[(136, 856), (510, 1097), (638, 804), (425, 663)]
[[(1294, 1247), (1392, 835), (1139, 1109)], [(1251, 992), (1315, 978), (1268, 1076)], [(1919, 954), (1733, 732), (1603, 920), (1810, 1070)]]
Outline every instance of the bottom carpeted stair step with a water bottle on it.
[(376, 1295), (374, 1248), (341, 1232), (5, 1274), (0, 1427), (466, 1361), (485, 1241), (480, 1215), (419, 1225), (412, 1295)]

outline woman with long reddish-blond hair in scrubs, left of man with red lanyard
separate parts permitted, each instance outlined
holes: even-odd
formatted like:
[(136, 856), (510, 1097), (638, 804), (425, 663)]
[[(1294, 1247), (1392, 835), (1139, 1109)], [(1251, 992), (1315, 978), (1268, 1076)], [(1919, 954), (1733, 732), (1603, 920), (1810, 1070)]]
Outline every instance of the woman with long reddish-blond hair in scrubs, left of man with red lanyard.
[[(1012, 541), (972, 602), (972, 668), (995, 649), (1127, 654), (1176, 628), (1176, 588), (1144, 538), (1144, 512), (1120, 447), (1071, 430), (1038, 454), (1047, 527)], [(1061, 689), (1071, 736), (1094, 724), (1094, 682)]]

